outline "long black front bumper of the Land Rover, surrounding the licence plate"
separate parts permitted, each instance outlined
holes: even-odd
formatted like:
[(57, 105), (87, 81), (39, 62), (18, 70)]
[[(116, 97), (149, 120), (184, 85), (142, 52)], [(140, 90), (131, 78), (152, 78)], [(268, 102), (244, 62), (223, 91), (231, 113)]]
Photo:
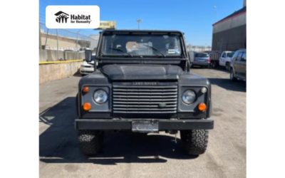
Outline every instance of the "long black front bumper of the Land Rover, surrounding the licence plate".
[[(141, 119), (142, 120), (142, 119)], [(145, 120), (145, 119), (143, 119)], [(158, 122), (158, 130), (194, 130), (214, 128), (214, 120), (162, 120), (150, 119)], [(132, 130), (134, 121), (140, 119), (76, 119), (76, 130)]]

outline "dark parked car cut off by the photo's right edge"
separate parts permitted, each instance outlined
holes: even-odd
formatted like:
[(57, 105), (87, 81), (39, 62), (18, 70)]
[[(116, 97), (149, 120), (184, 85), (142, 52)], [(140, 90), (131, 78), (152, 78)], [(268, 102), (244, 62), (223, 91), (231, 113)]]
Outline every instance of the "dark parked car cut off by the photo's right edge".
[(231, 80), (247, 80), (247, 50), (240, 49), (232, 56), (229, 78)]

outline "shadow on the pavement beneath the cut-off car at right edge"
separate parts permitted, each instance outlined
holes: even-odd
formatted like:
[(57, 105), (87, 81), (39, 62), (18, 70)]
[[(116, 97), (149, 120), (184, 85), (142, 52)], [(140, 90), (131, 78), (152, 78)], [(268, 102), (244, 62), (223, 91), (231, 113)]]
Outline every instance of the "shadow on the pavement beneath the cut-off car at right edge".
[(235, 81), (233, 82), (229, 78), (208, 78), (212, 85), (218, 85), (226, 90), (247, 91), (247, 83), (244, 81)]

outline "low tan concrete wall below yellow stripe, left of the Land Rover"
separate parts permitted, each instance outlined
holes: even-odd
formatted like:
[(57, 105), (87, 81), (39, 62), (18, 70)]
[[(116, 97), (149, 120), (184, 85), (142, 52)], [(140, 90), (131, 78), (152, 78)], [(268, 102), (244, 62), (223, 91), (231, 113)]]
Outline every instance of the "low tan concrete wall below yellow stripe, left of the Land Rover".
[(67, 78), (78, 72), (82, 62), (52, 63), (39, 66), (39, 83)]

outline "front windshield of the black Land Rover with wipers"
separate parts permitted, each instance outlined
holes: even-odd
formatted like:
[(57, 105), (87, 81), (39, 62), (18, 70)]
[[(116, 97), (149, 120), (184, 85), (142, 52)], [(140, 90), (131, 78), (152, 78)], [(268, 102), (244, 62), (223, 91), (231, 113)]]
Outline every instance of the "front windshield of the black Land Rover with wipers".
[(105, 56), (181, 56), (180, 36), (105, 34), (101, 52)]

